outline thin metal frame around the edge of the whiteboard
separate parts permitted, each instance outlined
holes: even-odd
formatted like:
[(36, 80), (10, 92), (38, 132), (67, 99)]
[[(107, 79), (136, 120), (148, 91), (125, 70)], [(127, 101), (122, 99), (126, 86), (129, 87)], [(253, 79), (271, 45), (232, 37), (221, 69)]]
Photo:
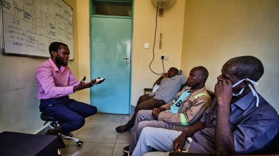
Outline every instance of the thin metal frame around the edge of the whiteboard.
[[(72, 8), (73, 10), (73, 50), (74, 50), (74, 9), (73, 7), (71, 7), (70, 5), (68, 5), (64, 0), (62, 0), (67, 6), (69, 6), (70, 8)], [(22, 57), (34, 57), (34, 58), (50, 58), (49, 57), (45, 57), (45, 56), (39, 56), (39, 55), (27, 55), (27, 54), (17, 54), (17, 53), (6, 53), (5, 52), (5, 41), (4, 41), (4, 34), (3, 34), (4, 30), (3, 30), (3, 12), (2, 12), (2, 0), (0, 0), (0, 53), (2, 55), (5, 56), (22, 56)], [(70, 59), (71, 61), (75, 60), (74, 57), (74, 51), (70, 51), (73, 54), (73, 59)]]

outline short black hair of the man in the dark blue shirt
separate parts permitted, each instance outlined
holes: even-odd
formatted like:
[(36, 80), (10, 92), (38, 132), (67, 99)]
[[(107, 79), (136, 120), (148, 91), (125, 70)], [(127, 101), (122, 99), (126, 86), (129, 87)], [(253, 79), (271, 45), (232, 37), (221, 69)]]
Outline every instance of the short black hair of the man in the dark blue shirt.
[(225, 65), (233, 65), (231, 73), (239, 80), (249, 78), (257, 82), (264, 73), (262, 62), (253, 56), (232, 58)]

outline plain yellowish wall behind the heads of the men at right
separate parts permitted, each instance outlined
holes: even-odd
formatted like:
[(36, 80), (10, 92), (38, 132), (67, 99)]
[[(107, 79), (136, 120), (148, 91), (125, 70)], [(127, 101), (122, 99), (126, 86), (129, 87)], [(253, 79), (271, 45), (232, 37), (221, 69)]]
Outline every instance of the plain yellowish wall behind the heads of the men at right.
[(265, 68), (256, 86), (279, 112), (279, 1), (192, 1), (185, 4), (183, 71), (204, 66), (207, 89), (214, 90), (222, 65), (230, 58), (252, 55)]

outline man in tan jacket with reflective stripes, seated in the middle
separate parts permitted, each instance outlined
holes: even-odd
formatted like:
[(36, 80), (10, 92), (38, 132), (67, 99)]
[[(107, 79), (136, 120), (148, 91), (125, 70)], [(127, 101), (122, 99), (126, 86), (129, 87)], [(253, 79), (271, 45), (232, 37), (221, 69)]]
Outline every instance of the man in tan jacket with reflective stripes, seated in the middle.
[(175, 100), (160, 108), (138, 111), (135, 119), (135, 127), (132, 133), (130, 146), (123, 151), (130, 154), (145, 127), (157, 127), (183, 131), (189, 125), (200, 120), (203, 112), (211, 105), (211, 96), (205, 90), (205, 82), (208, 71), (204, 67), (195, 67), (190, 71), (187, 85), (180, 91)]

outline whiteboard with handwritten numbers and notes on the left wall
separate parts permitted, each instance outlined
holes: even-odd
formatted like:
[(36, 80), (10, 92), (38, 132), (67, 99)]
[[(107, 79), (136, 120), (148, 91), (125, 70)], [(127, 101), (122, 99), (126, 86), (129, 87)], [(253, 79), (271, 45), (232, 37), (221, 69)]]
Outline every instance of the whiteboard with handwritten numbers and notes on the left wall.
[(68, 45), (74, 60), (73, 8), (62, 0), (2, 0), (2, 53), (50, 57), (49, 44)]

